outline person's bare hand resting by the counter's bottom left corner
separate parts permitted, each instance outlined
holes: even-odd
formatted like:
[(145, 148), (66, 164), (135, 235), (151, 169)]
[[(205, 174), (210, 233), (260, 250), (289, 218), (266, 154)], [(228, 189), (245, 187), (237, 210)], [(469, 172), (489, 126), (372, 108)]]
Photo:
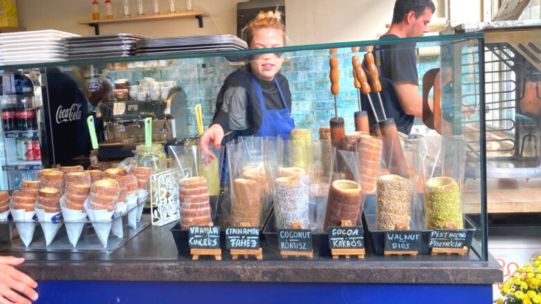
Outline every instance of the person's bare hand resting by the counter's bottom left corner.
[[(37, 300), (37, 282), (30, 276), (15, 269), (15, 265), (21, 265), (24, 258), (14, 256), (0, 256), (0, 304), (21, 303), (29, 304)], [(21, 296), (23, 294), (24, 296)]]

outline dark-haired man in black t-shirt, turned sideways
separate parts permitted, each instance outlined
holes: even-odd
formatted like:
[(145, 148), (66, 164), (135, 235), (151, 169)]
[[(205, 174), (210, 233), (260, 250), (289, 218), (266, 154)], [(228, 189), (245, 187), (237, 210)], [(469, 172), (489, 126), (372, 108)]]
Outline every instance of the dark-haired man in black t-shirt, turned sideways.
[[(431, 0), (397, 0), (393, 10), (393, 22), (385, 35), (379, 39), (397, 39), (420, 37), (428, 32), (436, 7)], [(417, 56), (415, 43), (381, 46), (377, 52), (379, 57), (379, 73), (383, 89), (390, 82), (394, 92), (388, 92), (390, 98), (384, 99), (387, 117), (393, 117), (400, 132), (409, 133), (413, 119), (422, 117), (422, 96), (419, 94), (419, 77), (417, 73)], [(433, 101), (429, 100), (432, 108)]]

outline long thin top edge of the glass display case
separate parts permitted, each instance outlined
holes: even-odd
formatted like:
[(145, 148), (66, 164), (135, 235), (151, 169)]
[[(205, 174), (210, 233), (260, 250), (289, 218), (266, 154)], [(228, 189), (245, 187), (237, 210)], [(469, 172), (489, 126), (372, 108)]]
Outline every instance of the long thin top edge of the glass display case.
[(251, 50), (239, 50), (239, 51), (218, 51), (218, 52), (193, 52), (193, 53), (171, 53), (171, 54), (160, 54), (160, 55), (141, 55), (141, 56), (126, 56), (126, 57), (99, 57), (99, 58), (90, 58), (85, 60), (65, 60), (65, 61), (54, 61), (54, 62), (41, 62), (41, 63), (26, 63), (26, 64), (7, 64), (0, 66), (0, 71), (2, 70), (12, 70), (12, 69), (32, 69), (39, 67), (53, 67), (53, 66), (66, 66), (66, 65), (84, 65), (84, 64), (107, 64), (112, 62), (133, 62), (133, 61), (149, 61), (149, 60), (169, 60), (169, 59), (178, 59), (178, 58), (194, 58), (194, 57), (212, 57), (212, 56), (225, 56), (232, 58), (239, 58), (239, 60), (232, 61), (243, 61), (244, 56), (246, 55), (255, 55), (270, 53), (269, 50), (272, 50), (271, 53), (285, 53), (285, 52), (294, 52), (294, 51), (306, 51), (306, 50), (316, 50), (316, 49), (325, 49), (325, 48), (346, 48), (352, 46), (372, 46), (374, 44), (404, 44), (411, 42), (434, 42), (439, 45), (445, 45), (448, 43), (455, 44), (457, 42), (462, 42), (468, 39), (478, 39), (483, 38), (483, 33), (467, 33), (467, 34), (455, 34), (455, 35), (438, 35), (438, 36), (423, 36), (423, 37), (411, 37), (411, 38), (400, 38), (400, 39), (385, 39), (385, 40), (366, 40), (358, 42), (337, 42), (329, 44), (310, 44), (302, 46), (284, 46), (282, 48), (258, 48)]

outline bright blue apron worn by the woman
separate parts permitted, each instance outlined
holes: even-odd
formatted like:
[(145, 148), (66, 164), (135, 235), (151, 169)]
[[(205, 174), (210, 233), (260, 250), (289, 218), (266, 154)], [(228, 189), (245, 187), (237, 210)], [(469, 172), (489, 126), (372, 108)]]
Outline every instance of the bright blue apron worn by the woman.
[[(257, 99), (259, 99), (259, 105), (261, 105), (261, 125), (254, 136), (279, 136), (284, 139), (289, 139), (289, 133), (295, 129), (295, 120), (291, 116), (291, 111), (286, 104), (286, 98), (280, 89), (280, 84), (276, 78), (274, 78), (278, 92), (280, 92), (280, 98), (284, 103), (284, 109), (268, 110), (263, 98), (263, 92), (257, 79), (252, 78), (252, 84), (254, 84), (255, 91), (257, 93)], [(240, 134), (239, 134), (240, 136)], [(238, 136), (235, 136), (238, 137)], [(234, 138), (233, 140), (236, 140)], [(224, 147), (225, 148), (225, 147)], [(222, 163), (222, 186), (225, 186), (225, 181), (229, 181), (229, 168), (227, 167), (227, 151), (224, 151), (223, 163)]]

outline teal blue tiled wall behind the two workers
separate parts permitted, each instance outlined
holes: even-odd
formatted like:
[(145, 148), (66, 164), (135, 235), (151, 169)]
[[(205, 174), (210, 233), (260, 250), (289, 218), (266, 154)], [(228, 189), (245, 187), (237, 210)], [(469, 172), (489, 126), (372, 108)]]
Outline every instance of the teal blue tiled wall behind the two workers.
[[(429, 46), (424, 44), (423, 46)], [(419, 45), (418, 45), (419, 46)], [(345, 118), (345, 130), (354, 130), (353, 112), (357, 111), (357, 89), (352, 80), (352, 54), (350, 48), (338, 50), (338, 67), (340, 73), (340, 93), (337, 96), (338, 116)], [(312, 138), (318, 138), (319, 127), (328, 126), (329, 118), (334, 116), (334, 97), (330, 93), (329, 51), (310, 50), (285, 53), (285, 61), (281, 73), (289, 80), (292, 97), (292, 114), (298, 129), (310, 129)], [(422, 75), (429, 69), (438, 67), (440, 57), (420, 57), (418, 73), (420, 83)], [(205, 128), (212, 123), (216, 95), (223, 80), (241, 66), (231, 63), (223, 57), (203, 57), (174, 60), (168, 68), (119, 70), (110, 73), (110, 78), (128, 78), (130, 83), (144, 77), (155, 80), (177, 80), (178, 85), (187, 95), (187, 129), (189, 136), (197, 133), (194, 107), (202, 105), (203, 124)], [(422, 87), (419, 88), (420, 93)]]

